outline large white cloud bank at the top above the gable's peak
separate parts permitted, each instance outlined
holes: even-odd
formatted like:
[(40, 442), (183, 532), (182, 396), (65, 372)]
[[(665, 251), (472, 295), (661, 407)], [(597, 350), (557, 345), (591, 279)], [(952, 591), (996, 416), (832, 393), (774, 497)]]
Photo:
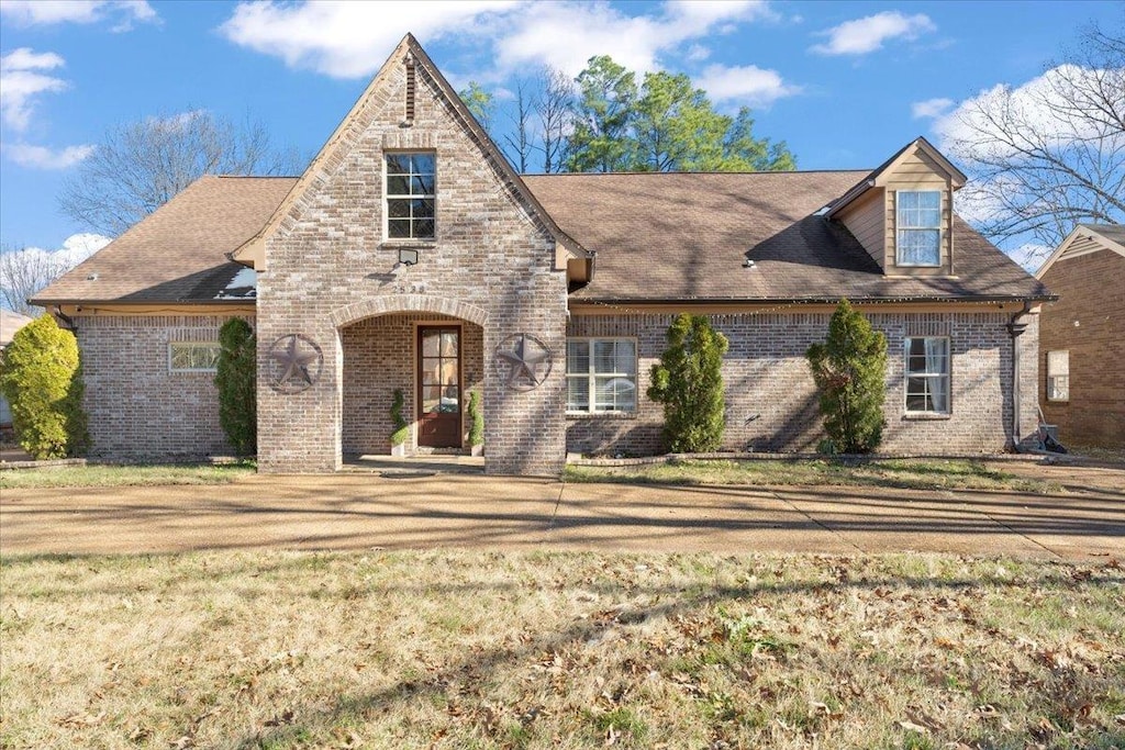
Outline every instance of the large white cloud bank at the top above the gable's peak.
[(706, 39), (732, 24), (772, 18), (762, 0), (667, 2), (632, 16), (608, 2), (305, 2), (240, 3), (220, 33), (241, 46), (282, 58), (290, 67), (335, 78), (374, 73), (406, 31), (424, 44), (442, 38), (490, 45), (501, 80), (529, 65), (551, 64), (577, 74), (598, 54), (640, 72), (659, 67), (660, 54)]

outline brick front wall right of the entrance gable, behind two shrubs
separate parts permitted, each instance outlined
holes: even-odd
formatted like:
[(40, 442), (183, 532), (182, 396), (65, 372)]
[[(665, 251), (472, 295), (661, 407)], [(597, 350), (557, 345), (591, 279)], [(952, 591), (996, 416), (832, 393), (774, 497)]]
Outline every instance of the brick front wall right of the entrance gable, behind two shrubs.
[[(730, 340), (723, 361), (727, 398), (724, 450), (813, 451), (824, 437), (816, 387), (804, 352), (822, 341), (829, 313), (712, 315)], [(867, 313), (886, 334), (886, 428), (881, 451), (992, 453), (1011, 433), (1011, 338), (1006, 313)], [(1020, 336), (1024, 363), (1022, 437), (1035, 430), (1036, 316)], [(639, 408), (633, 414), (567, 417), (567, 450), (577, 453), (652, 454), (660, 451), (663, 412), (646, 392), (650, 369), (665, 347), (673, 319), (665, 314), (575, 315), (572, 336), (628, 336), (638, 342)], [(907, 415), (906, 336), (950, 336), (952, 412), (948, 417)]]

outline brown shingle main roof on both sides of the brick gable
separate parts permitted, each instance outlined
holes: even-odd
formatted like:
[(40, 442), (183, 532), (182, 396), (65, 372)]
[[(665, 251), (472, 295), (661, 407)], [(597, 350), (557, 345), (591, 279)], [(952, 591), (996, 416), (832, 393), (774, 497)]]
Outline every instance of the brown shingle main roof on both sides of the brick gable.
[[(889, 278), (818, 211), (870, 172), (552, 174), (523, 179), (559, 227), (595, 251), (576, 300), (1045, 298), (1042, 283), (964, 222), (956, 278)], [(215, 302), (296, 178), (204, 177), (76, 269), (37, 304)], [(440, 198), (439, 198), (440, 200)], [(440, 208), (439, 208), (440, 211)], [(746, 268), (747, 260), (754, 261)], [(235, 302), (245, 302), (235, 295)]]

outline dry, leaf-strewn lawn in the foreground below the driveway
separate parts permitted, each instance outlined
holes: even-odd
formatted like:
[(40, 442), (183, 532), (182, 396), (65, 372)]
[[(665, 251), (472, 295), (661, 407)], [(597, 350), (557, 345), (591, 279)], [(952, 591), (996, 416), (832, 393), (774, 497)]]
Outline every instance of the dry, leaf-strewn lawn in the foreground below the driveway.
[(20, 558), (2, 748), (1125, 747), (1125, 571), (956, 557)]

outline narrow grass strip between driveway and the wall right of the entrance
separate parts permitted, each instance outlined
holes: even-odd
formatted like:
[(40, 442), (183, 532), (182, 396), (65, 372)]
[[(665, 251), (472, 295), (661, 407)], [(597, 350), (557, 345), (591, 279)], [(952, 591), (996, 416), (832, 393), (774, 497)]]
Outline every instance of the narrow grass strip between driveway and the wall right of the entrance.
[(990, 489), (1050, 494), (1053, 482), (1017, 477), (983, 461), (886, 459), (684, 459), (627, 467), (568, 466), (567, 481), (624, 481), (655, 485), (847, 485), (900, 489)]

